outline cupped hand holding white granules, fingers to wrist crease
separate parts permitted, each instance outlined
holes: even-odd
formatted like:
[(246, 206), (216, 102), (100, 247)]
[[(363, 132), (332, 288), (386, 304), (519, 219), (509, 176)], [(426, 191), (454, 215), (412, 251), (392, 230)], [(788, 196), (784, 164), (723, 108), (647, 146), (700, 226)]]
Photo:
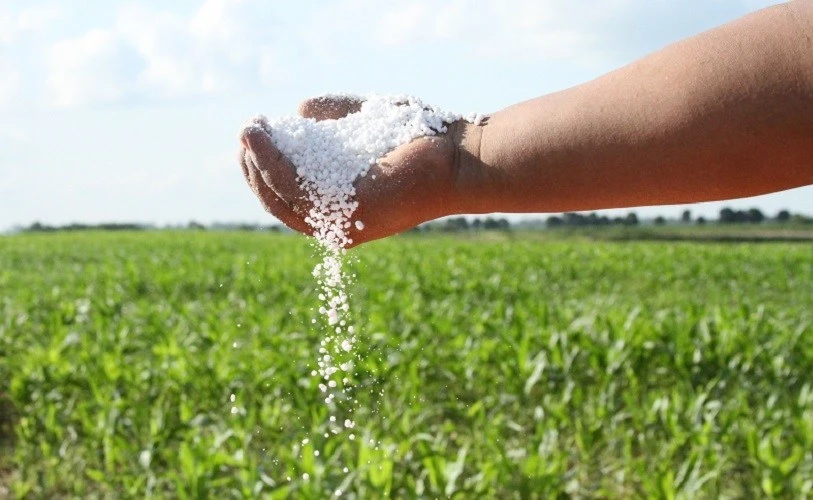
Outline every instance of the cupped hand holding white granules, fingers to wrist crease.
[[(299, 114), (317, 121), (337, 120), (358, 112), (361, 104), (353, 97), (318, 97), (303, 102)], [(352, 220), (363, 225), (351, 225), (352, 244), (348, 246), (461, 212), (459, 172), (461, 158), (466, 156), (461, 154), (461, 141), (467, 125), (458, 121), (444, 134), (401, 145), (356, 180), (359, 205)], [(291, 229), (312, 234), (313, 229), (305, 222), (311, 204), (294, 165), (274, 146), (263, 127), (247, 127), (241, 143), (240, 166), (263, 208)]]

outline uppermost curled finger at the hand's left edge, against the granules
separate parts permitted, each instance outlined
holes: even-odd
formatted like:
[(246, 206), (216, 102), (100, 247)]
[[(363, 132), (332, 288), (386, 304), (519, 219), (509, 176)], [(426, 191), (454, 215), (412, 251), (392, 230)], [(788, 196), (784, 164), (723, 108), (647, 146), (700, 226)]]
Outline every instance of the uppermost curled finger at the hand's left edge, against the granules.
[(304, 217), (310, 209), (308, 197), (299, 185), (296, 168), (271, 142), (271, 136), (259, 127), (243, 131), (243, 145), (251, 163), (277, 195), (298, 215)]

